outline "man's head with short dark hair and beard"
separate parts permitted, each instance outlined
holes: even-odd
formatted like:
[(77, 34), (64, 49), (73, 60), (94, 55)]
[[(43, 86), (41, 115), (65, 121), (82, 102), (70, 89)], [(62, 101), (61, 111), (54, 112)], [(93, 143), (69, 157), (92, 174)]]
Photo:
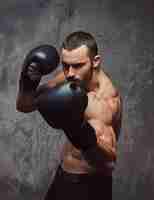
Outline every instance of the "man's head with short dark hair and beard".
[(65, 38), (61, 57), (65, 77), (84, 80), (87, 84), (100, 65), (96, 41), (83, 31), (73, 32)]

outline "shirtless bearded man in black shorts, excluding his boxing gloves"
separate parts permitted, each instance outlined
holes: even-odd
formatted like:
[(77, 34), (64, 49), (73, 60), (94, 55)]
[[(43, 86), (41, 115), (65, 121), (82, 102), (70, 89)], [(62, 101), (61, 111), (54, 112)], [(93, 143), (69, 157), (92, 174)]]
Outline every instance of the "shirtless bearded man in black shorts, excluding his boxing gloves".
[[(27, 89), (21, 76), (16, 101), (17, 110), (25, 113), (37, 110), (35, 99), (46, 88), (53, 89), (69, 79), (84, 81), (88, 97), (83, 113), (88, 127), (86, 126), (84, 130), (87, 132), (87, 141), (95, 135), (96, 145), (94, 145), (95, 148), (84, 151), (82, 145), (78, 145), (78, 148), (74, 145), (74, 140), (71, 141), (68, 137), (64, 145), (61, 166), (45, 199), (90, 200), (101, 199), (102, 196), (111, 199), (112, 171), (117, 158), (117, 138), (122, 112), (119, 92), (101, 68), (101, 56), (98, 54), (96, 41), (91, 34), (77, 31), (68, 35), (62, 44), (61, 62), (63, 70), (44, 85), (37, 87), (40, 81), (38, 75), (33, 78), (39, 79), (36, 86)], [(29, 76), (32, 76), (35, 70), (36, 68), (31, 67)], [(62, 117), (69, 118), (67, 114), (62, 114)], [(82, 132), (81, 127), (80, 130), (79, 132)]]

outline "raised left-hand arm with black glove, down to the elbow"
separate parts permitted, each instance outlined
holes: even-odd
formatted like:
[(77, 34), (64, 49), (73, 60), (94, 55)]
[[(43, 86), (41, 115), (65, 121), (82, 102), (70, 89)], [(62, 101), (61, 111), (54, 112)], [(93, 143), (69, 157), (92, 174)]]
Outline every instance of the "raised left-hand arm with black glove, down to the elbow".
[(59, 64), (59, 55), (55, 47), (41, 45), (32, 49), (26, 56), (19, 78), (16, 109), (29, 113), (34, 110), (34, 99), (46, 85), (39, 85), (41, 77), (53, 72)]

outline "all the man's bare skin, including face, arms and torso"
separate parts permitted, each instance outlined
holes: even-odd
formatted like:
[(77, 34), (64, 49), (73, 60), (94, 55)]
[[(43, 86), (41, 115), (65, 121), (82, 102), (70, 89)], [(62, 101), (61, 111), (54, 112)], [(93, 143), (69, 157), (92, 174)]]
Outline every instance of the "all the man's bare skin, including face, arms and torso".
[[(115, 162), (117, 158), (116, 134), (118, 130), (115, 127), (120, 123), (120, 95), (110, 78), (100, 68), (100, 56), (96, 55), (91, 58), (86, 46), (82, 45), (71, 51), (62, 49), (61, 59), (63, 71), (55, 75), (55, 78), (50, 80), (47, 85), (54, 87), (70, 76), (86, 81), (88, 106), (84, 117), (95, 129), (97, 145), (101, 154), (99, 156), (105, 155), (107, 158), (106, 162), (96, 163), (94, 167), (84, 158), (82, 152), (68, 141), (64, 145), (62, 167), (71, 173), (100, 171), (110, 174), (113, 168), (108, 163)], [(29, 94), (18, 92), (16, 101), (18, 111), (32, 112), (35, 110), (33, 104), (35, 92), (32, 91)]]

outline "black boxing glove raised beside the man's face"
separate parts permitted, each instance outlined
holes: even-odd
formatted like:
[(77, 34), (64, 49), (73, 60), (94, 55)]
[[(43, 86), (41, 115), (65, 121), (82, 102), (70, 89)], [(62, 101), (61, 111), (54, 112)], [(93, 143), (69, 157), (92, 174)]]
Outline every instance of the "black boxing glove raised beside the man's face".
[(59, 64), (59, 55), (55, 47), (41, 45), (32, 49), (24, 59), (20, 75), (20, 90), (35, 90), (42, 75), (54, 71)]

